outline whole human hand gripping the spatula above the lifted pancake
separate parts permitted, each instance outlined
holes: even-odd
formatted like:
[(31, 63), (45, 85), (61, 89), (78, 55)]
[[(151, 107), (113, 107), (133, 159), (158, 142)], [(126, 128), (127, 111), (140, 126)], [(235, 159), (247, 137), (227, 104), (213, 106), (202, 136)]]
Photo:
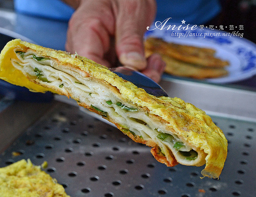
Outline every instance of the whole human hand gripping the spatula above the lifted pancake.
[(143, 47), (155, 12), (155, 0), (81, 0), (69, 21), (66, 50), (107, 67), (118, 59), (159, 82), (165, 63), (156, 54), (146, 60)]

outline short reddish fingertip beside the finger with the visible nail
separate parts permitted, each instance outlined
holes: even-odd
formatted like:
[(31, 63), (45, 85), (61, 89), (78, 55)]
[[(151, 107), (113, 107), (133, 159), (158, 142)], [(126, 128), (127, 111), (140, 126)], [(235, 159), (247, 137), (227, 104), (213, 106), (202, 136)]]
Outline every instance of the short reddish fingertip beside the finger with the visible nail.
[(161, 56), (152, 54), (147, 58), (147, 67), (141, 72), (158, 83), (161, 80), (164, 68), (165, 62), (162, 60)]

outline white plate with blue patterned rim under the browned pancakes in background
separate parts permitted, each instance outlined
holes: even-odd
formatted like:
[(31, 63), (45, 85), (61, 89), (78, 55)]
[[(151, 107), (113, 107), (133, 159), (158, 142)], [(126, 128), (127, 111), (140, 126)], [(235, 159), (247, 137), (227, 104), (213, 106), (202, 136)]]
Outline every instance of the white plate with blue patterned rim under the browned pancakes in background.
[[(178, 37), (177, 33), (182, 36)], [(195, 33), (194, 36), (192, 33)], [(197, 35), (202, 33), (202, 36), (196, 36), (196, 33)], [(215, 35), (211, 37), (207, 36), (207, 33), (215, 33)], [(229, 75), (222, 78), (205, 79), (207, 82), (230, 83), (241, 81), (256, 75), (256, 44), (242, 38), (241, 35), (241, 37), (238, 35), (233, 36), (230, 33), (229, 36), (224, 36), (223, 33), (225, 34), (227, 32), (209, 29), (199, 30), (199, 28), (194, 31), (156, 29), (147, 31), (145, 38), (158, 37), (167, 42), (215, 49), (216, 57), (229, 61), (230, 65), (227, 67)], [(204, 35), (206, 36), (204, 37)]]

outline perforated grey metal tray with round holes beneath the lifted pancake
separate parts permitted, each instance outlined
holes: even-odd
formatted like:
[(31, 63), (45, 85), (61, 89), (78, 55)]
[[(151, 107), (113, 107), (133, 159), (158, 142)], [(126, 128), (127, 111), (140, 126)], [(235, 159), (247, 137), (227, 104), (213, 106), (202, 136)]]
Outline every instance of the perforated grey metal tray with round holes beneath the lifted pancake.
[(46, 172), (71, 196), (255, 196), (255, 122), (212, 119), (229, 142), (219, 180), (200, 179), (203, 166), (166, 167), (150, 147), (61, 102), (8, 147), (0, 167), (20, 159), (47, 161)]

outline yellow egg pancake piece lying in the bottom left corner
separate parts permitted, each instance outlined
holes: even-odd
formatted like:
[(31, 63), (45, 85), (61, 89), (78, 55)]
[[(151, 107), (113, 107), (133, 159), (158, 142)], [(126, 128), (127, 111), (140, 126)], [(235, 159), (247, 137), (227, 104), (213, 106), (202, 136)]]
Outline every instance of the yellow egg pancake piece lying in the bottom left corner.
[(2, 197), (68, 197), (56, 179), (23, 159), (0, 168), (0, 195)]

